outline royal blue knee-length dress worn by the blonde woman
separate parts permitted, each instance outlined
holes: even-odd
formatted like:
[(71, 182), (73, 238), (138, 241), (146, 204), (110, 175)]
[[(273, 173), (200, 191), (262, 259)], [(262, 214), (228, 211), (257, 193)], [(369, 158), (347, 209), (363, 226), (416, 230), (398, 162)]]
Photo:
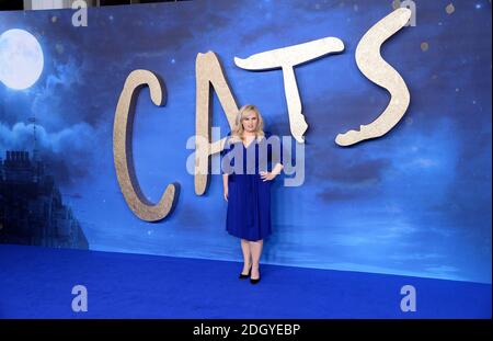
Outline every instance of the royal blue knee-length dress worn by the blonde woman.
[[(267, 132), (264, 134), (261, 141), (253, 140), (246, 147), (243, 141), (230, 143), (230, 134), (228, 134), (228, 140), (221, 152), (221, 166), (234, 167), (236, 163), (238, 164), (234, 170), (231, 168), (225, 170), (221, 167), (222, 173), (229, 174), (226, 230), (234, 237), (250, 241), (264, 239), (272, 234), (271, 183), (275, 180), (263, 181), (260, 172), (272, 171), (272, 167), (275, 166), (272, 164), (273, 150), (276, 148), (265, 145), (272, 134)], [(234, 157), (240, 154), (238, 148), (242, 149), (242, 159)], [(274, 154), (276, 152), (274, 151)], [(282, 155), (279, 157), (282, 158)], [(282, 159), (275, 158), (275, 160), (280, 162)], [(241, 163), (243, 163), (242, 168)], [(242, 171), (238, 172), (241, 169)]]

